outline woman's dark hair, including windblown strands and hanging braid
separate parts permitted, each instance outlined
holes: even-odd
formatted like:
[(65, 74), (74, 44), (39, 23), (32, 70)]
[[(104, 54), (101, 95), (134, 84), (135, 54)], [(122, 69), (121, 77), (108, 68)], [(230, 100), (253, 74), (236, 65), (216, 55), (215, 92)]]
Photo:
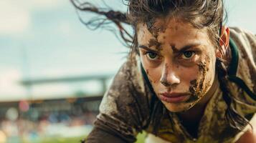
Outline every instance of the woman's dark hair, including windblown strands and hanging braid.
[[(224, 4), (222, 0), (125, 0), (128, 2), (127, 14), (121, 13), (120, 11), (101, 11), (96, 6), (90, 3), (76, 4), (75, 0), (71, 0), (72, 4), (81, 11), (90, 11), (95, 14), (101, 14), (105, 16), (106, 21), (112, 21), (120, 31), (120, 37), (125, 43), (131, 44), (131, 54), (138, 54), (138, 41), (136, 34), (136, 26), (138, 23), (147, 23), (154, 19), (168, 16), (178, 17), (186, 22), (189, 22), (197, 29), (207, 28), (207, 34), (215, 49), (222, 52), (222, 59), (217, 58), (216, 71), (219, 79), (220, 88), (222, 89), (222, 97), (224, 102), (227, 104), (227, 110), (225, 112), (225, 118), (229, 122), (230, 127), (244, 129), (247, 124), (250, 124), (245, 117), (242, 117), (236, 112), (232, 106), (233, 97), (230, 94), (228, 83), (227, 70), (228, 66), (228, 55), (224, 55), (224, 51), (219, 44), (220, 29), (223, 21), (226, 19), (227, 14), (224, 10)], [(82, 19), (80, 19), (82, 21)], [(84, 22), (83, 24), (90, 26), (92, 22)], [(98, 28), (104, 23), (95, 24)], [(124, 34), (131, 37), (127, 31), (123, 28), (122, 24), (131, 24), (134, 29), (134, 35), (131, 40), (125, 39)], [(159, 106), (159, 104), (157, 104)], [(155, 118), (156, 119), (156, 118)], [(153, 121), (157, 124), (160, 122), (161, 117)]]

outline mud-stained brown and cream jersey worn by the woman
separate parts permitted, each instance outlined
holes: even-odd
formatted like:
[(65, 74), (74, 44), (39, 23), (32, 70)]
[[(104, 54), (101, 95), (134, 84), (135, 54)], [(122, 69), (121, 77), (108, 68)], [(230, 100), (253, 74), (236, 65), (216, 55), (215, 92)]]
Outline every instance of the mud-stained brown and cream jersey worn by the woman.
[[(230, 28), (230, 39), (232, 62), (228, 88), (234, 97), (232, 106), (251, 120), (256, 112), (256, 36)], [(198, 131), (194, 131), (197, 137), (191, 136), (177, 114), (166, 111), (152, 92), (138, 56), (131, 56), (105, 93), (87, 142), (136, 142), (136, 135), (142, 131), (166, 142), (235, 142), (242, 132), (229, 127), (226, 109), (222, 90), (218, 88), (204, 110)]]

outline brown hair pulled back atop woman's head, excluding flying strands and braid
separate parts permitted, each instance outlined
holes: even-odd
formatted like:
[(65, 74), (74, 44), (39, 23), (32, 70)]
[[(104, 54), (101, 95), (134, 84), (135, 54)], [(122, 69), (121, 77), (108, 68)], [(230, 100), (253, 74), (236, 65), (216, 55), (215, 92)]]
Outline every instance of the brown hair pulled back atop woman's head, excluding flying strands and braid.
[[(219, 27), (224, 19), (222, 0), (128, 0), (128, 20), (136, 29), (139, 23), (148, 23), (158, 18), (172, 17), (189, 22), (198, 29), (207, 27), (212, 44), (219, 48)], [(138, 50), (137, 33), (131, 48)]]

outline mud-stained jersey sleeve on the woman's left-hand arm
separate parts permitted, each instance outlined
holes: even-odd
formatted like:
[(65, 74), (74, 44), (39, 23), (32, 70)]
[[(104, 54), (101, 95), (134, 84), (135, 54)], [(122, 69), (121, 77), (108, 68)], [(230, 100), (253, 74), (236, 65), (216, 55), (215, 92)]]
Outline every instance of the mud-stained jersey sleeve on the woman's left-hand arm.
[(137, 64), (126, 61), (100, 103), (87, 142), (135, 142), (149, 118), (148, 97)]

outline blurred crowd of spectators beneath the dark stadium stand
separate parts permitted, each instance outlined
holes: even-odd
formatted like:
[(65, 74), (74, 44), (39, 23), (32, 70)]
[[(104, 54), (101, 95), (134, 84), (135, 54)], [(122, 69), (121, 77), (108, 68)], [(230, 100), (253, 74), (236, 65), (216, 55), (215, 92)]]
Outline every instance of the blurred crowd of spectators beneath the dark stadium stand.
[(24, 114), (11, 107), (6, 111), (6, 116), (0, 119), (0, 143), (35, 142), (44, 137), (86, 136), (97, 114), (90, 111), (74, 114), (72, 110)]

